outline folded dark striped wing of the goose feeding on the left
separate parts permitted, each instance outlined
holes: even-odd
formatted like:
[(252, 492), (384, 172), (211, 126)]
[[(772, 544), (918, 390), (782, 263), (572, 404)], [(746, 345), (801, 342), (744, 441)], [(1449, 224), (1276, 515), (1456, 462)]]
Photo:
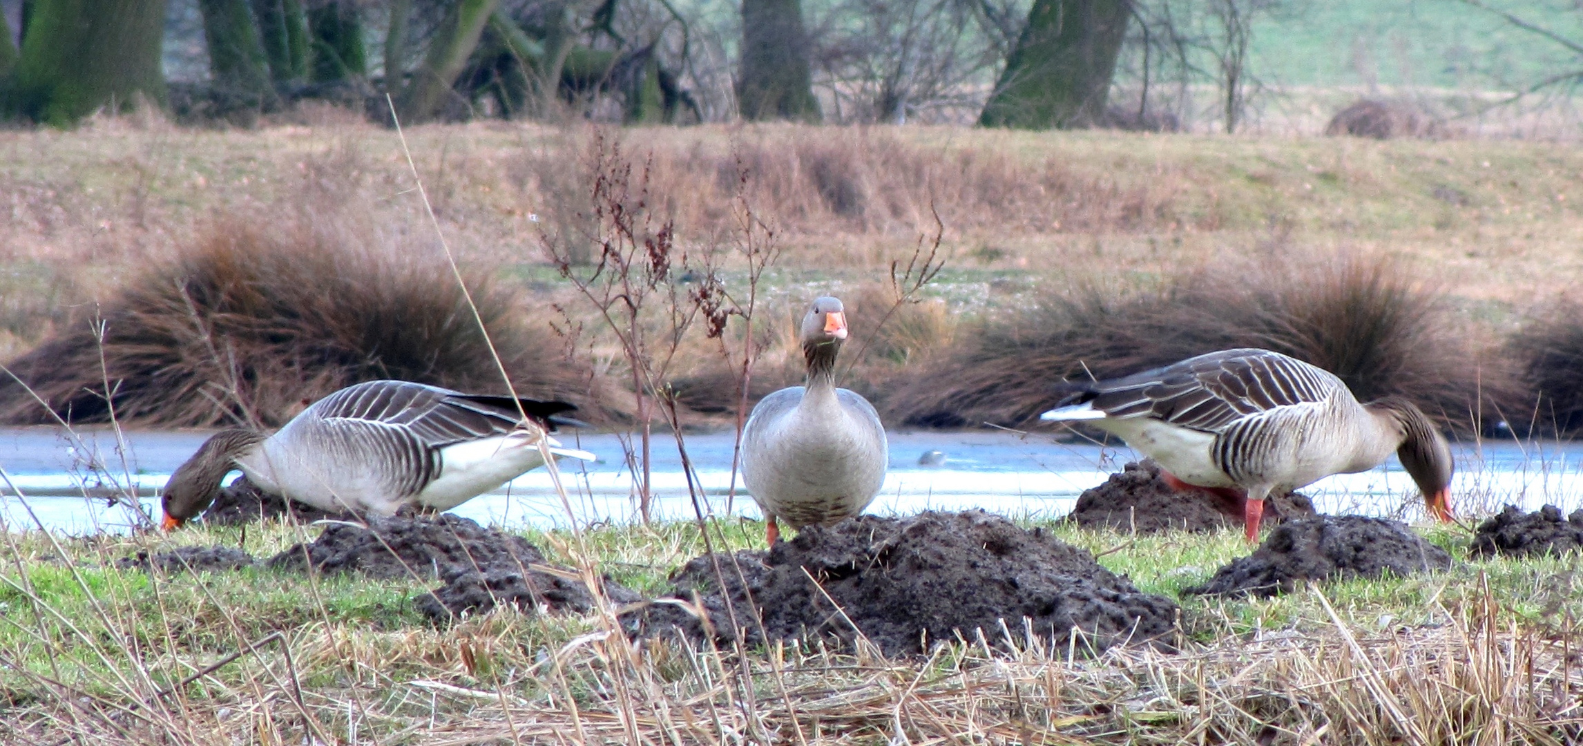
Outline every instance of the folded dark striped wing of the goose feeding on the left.
[[(567, 402), (533, 399), (521, 399), (521, 404), (529, 418), (546, 431), (554, 429), (551, 415), (576, 409)], [(320, 399), (309, 412), (326, 421), (377, 423), (404, 431), (429, 448), (503, 436), (521, 423), (510, 396), (464, 394), (404, 380), (347, 386)]]

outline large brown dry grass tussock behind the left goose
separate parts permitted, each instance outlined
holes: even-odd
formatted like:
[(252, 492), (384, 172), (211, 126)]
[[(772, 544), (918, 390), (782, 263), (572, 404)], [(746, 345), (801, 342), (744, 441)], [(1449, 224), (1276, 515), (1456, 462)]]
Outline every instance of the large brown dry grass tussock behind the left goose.
[[(0, 421), (279, 424), (304, 399), (370, 379), (505, 391), (443, 263), (307, 225), (230, 219), (199, 236), (98, 318), (62, 325), (13, 360)], [(467, 285), (518, 393), (581, 401), (586, 374), (548, 325), (481, 272)]]

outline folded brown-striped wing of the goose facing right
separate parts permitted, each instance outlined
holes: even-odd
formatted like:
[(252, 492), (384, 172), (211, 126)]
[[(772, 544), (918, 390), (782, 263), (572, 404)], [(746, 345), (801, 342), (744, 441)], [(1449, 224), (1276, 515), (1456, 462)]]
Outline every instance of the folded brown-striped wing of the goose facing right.
[(1181, 428), (1220, 432), (1247, 415), (1322, 402), (1338, 388), (1346, 390), (1346, 385), (1323, 369), (1277, 352), (1243, 348), (1213, 352), (1122, 379), (1081, 383), (1062, 409), (1083, 409), (1110, 418), (1151, 417)]

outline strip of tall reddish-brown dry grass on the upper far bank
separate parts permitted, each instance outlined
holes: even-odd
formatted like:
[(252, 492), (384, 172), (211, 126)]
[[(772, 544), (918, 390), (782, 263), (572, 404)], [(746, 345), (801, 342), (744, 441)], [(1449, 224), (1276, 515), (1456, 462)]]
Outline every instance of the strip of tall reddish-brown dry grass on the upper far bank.
[[(1219, 220), (1213, 211), (1179, 206), (1183, 190), (1171, 177), (1081, 171), (1059, 154), (1031, 157), (999, 138), (931, 144), (890, 128), (796, 125), (742, 128), (730, 139), (670, 130), (606, 136), (638, 155), (654, 209), (690, 236), (736, 228), (728, 207), (744, 188), (779, 228), (812, 236), (932, 231), (931, 206), (953, 231), (1213, 228)], [(575, 230), (592, 173), (568, 168), (567, 152), (589, 147), (556, 144), (526, 150), (514, 171), (526, 192), (540, 195), (556, 228)]]

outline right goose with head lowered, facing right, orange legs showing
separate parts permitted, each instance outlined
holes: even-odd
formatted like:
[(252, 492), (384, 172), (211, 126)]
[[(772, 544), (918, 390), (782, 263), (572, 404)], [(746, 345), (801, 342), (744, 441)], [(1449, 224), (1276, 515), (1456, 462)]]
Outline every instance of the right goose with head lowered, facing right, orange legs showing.
[(1235, 488), (1247, 540), (1273, 491), (1374, 469), (1391, 451), (1431, 515), (1452, 520), (1452, 450), (1401, 398), (1358, 404), (1341, 379), (1270, 350), (1224, 350), (1094, 383), (1040, 420), (1086, 421), (1152, 456), (1176, 488)]

